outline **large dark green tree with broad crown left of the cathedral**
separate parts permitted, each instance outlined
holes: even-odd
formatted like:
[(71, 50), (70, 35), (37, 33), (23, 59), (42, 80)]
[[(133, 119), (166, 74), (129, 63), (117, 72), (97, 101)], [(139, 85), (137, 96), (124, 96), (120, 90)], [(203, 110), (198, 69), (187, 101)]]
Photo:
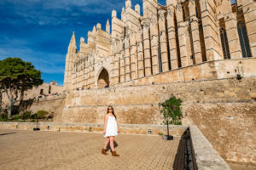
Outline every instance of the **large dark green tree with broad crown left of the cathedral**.
[(34, 68), (30, 62), (20, 58), (7, 58), (0, 61), (0, 83), (9, 99), (9, 114), (12, 106), (21, 101), (24, 92), (43, 83), (41, 71)]

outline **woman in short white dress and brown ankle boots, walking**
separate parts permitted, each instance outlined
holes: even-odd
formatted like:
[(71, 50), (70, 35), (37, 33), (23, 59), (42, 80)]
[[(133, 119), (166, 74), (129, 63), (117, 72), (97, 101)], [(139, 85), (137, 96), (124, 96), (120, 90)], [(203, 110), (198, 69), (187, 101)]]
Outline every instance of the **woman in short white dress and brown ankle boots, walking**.
[(104, 118), (104, 137), (108, 138), (104, 144), (104, 148), (102, 149), (102, 154), (108, 155), (106, 149), (110, 142), (110, 148), (112, 150), (112, 156), (119, 156), (113, 146), (114, 136), (118, 135), (119, 133), (119, 126), (116, 121), (116, 116), (113, 112), (113, 107), (111, 105), (108, 106), (107, 115)]

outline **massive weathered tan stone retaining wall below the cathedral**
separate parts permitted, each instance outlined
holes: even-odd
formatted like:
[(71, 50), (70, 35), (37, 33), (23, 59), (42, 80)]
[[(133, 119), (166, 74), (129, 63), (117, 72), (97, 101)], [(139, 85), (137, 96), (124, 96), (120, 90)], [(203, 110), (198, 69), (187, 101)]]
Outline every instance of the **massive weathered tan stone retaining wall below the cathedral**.
[(120, 124), (160, 125), (160, 103), (183, 100), (183, 125), (195, 124), (226, 161), (255, 164), (256, 77), (74, 90), (32, 105), (55, 122), (102, 124), (113, 105)]

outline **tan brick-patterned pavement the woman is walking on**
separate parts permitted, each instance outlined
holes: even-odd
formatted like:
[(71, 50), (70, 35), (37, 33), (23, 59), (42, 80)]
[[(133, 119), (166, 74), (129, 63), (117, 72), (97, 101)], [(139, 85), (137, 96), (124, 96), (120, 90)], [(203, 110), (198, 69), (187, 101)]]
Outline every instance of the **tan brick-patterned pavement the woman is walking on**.
[(119, 134), (113, 157), (101, 133), (0, 130), (0, 169), (172, 169), (179, 139)]

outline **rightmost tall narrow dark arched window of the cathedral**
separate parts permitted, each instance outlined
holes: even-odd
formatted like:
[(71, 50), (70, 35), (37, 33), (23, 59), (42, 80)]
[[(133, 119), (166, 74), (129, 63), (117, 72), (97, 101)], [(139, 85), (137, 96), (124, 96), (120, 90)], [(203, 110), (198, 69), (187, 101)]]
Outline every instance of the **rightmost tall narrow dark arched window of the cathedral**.
[(252, 57), (249, 41), (247, 37), (247, 28), (243, 22), (239, 22), (237, 26), (239, 40), (241, 44), (241, 53), (243, 58)]

